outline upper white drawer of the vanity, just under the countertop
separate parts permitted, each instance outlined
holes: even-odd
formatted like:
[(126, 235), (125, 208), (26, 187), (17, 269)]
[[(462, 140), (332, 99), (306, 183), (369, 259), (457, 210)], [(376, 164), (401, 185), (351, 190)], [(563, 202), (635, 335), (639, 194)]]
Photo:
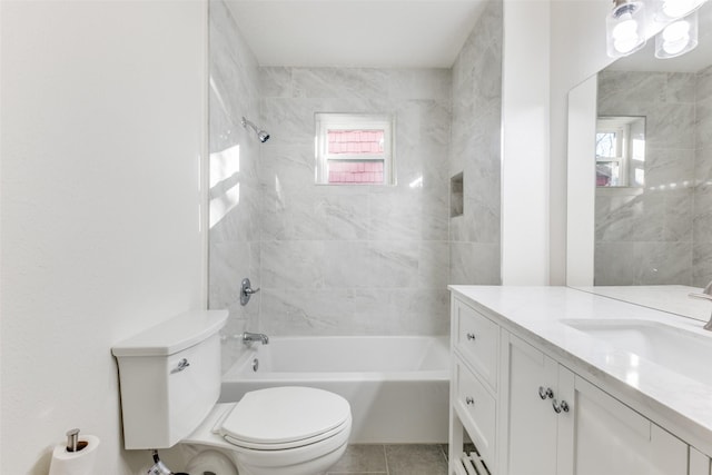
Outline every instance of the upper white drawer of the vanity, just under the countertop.
[(496, 390), (500, 327), (459, 300), (455, 300), (454, 313), (453, 345)]

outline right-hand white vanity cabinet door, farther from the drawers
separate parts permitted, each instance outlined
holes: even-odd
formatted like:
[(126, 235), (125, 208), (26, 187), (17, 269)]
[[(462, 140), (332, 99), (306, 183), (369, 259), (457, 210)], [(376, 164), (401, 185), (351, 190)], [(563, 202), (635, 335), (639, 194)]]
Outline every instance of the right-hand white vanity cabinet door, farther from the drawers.
[(682, 441), (591, 383), (574, 376), (573, 388), (562, 386), (561, 396), (570, 410), (560, 418), (558, 474), (688, 474)]

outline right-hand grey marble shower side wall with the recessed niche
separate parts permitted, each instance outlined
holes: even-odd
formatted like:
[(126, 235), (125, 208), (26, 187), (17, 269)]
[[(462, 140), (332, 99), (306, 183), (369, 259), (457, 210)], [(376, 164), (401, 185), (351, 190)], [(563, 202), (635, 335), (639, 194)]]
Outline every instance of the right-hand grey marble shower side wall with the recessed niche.
[(449, 219), (449, 283), (500, 284), (502, 2), (491, 1), (453, 66), (449, 176), (463, 215)]

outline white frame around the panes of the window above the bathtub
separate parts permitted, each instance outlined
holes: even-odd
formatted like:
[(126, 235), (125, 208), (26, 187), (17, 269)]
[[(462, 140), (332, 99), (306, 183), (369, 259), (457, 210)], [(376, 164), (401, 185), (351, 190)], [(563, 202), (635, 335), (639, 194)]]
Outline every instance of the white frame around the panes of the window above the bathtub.
[[(316, 122), (316, 167), (317, 185), (396, 185), (394, 166), (395, 157), (395, 119), (388, 113), (333, 113), (317, 112)], [(329, 154), (329, 130), (383, 130), (383, 154)], [(329, 160), (334, 161), (383, 161), (383, 182), (379, 184), (332, 184), (328, 176)]]

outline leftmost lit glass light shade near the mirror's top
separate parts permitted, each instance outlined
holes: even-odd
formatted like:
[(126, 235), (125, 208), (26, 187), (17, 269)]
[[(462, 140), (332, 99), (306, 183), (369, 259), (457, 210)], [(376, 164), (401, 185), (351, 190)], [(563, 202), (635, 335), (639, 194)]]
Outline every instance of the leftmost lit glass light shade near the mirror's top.
[(645, 8), (642, 1), (613, 0), (605, 24), (611, 58), (631, 55), (645, 46)]

